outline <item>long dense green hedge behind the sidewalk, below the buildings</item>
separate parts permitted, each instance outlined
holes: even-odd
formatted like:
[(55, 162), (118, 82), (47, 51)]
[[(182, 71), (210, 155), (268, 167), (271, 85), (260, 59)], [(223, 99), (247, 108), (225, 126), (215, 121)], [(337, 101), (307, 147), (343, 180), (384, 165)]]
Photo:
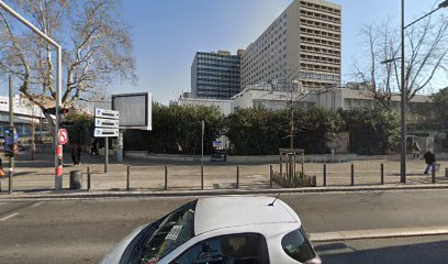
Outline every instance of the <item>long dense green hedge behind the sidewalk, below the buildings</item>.
[[(228, 136), (231, 154), (269, 155), (289, 147), (290, 111), (244, 109), (223, 117), (217, 108), (153, 107), (153, 131), (130, 131), (125, 135), (127, 150), (150, 153), (200, 154), (201, 120), (205, 121), (204, 151), (210, 153), (212, 141)], [(294, 110), (294, 147), (306, 153), (329, 153), (327, 141), (334, 134), (350, 134), (349, 151), (356, 154), (387, 154), (399, 146), (400, 123), (395, 113), (383, 109), (331, 111), (322, 108)]]

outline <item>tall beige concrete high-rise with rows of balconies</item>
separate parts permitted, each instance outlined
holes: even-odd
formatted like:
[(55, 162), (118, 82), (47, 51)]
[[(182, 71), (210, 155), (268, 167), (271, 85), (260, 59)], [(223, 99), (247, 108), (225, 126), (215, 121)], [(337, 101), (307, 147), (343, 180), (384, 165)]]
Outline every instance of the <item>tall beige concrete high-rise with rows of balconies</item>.
[(294, 0), (242, 57), (242, 89), (273, 80), (300, 80), (304, 88), (340, 82), (339, 4)]

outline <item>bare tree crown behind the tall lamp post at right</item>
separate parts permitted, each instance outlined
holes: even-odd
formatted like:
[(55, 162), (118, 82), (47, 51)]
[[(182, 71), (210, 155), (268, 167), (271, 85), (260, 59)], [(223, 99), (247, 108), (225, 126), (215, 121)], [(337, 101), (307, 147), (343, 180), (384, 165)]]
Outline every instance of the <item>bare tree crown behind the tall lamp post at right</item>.
[[(439, 73), (447, 73), (448, 16), (430, 16), (405, 32), (405, 90), (407, 101), (432, 86)], [(380, 106), (390, 108), (393, 95), (401, 94), (400, 29), (391, 20), (362, 28), (361, 45), (367, 59), (355, 63), (358, 81), (363, 84), (366, 96)]]

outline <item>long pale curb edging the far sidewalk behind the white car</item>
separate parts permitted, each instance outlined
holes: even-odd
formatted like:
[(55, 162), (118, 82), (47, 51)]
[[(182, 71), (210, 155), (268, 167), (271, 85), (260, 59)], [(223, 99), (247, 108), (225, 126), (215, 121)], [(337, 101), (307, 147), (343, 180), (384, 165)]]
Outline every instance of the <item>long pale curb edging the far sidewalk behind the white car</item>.
[(187, 196), (224, 196), (224, 195), (273, 195), (273, 194), (325, 194), (325, 193), (357, 193), (357, 191), (393, 191), (393, 190), (430, 190), (448, 189), (448, 184), (436, 185), (396, 185), (396, 186), (363, 186), (363, 187), (307, 187), (307, 188), (279, 188), (279, 189), (220, 189), (220, 190), (113, 190), (113, 191), (72, 191), (41, 193), (30, 195), (15, 193), (12, 195), (0, 194), (0, 200), (13, 199), (92, 199), (92, 198), (127, 198), (127, 197), (187, 197)]

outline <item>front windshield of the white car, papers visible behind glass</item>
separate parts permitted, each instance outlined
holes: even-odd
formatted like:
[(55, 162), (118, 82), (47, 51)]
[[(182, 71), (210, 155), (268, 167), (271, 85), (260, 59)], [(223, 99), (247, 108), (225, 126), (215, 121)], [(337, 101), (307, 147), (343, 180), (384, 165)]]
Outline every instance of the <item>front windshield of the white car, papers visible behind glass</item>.
[(179, 245), (194, 237), (197, 201), (189, 202), (170, 213), (146, 241), (141, 264), (157, 263)]

